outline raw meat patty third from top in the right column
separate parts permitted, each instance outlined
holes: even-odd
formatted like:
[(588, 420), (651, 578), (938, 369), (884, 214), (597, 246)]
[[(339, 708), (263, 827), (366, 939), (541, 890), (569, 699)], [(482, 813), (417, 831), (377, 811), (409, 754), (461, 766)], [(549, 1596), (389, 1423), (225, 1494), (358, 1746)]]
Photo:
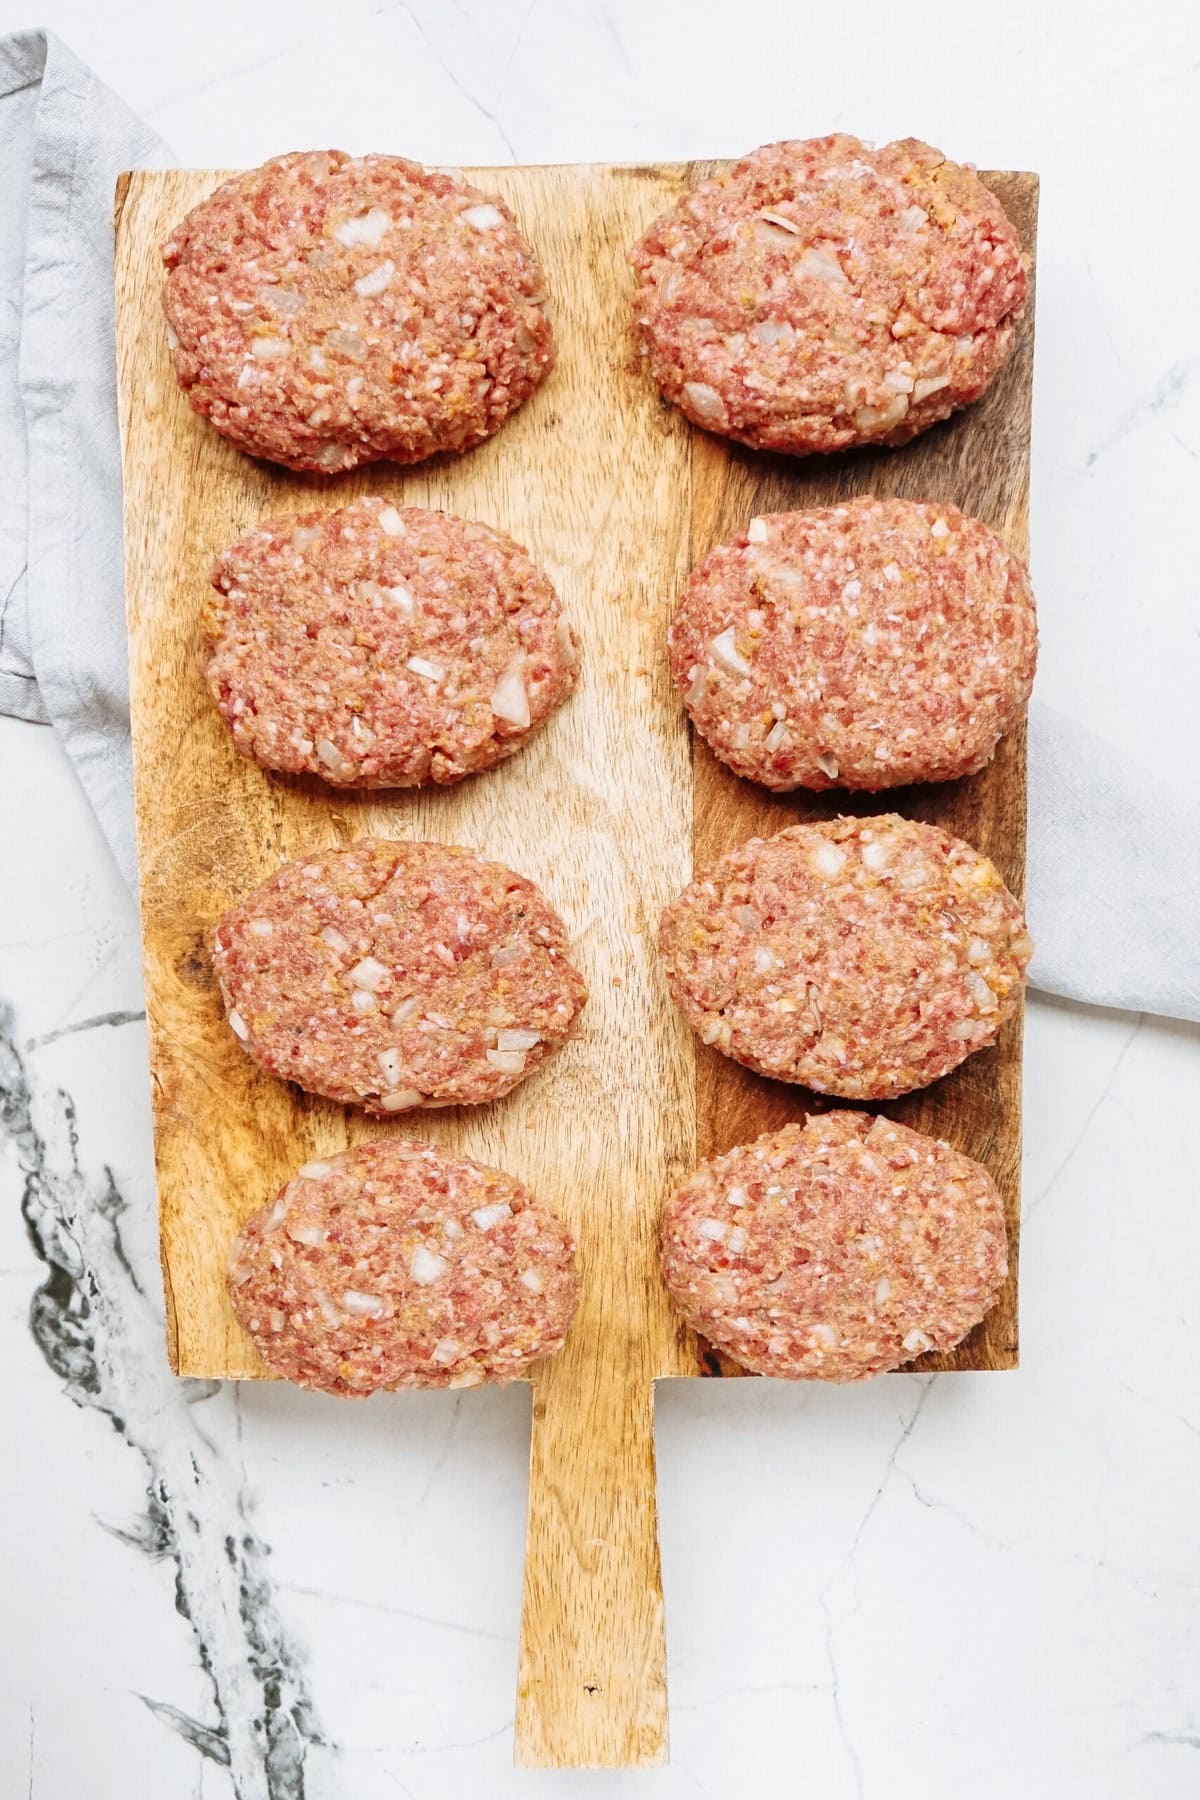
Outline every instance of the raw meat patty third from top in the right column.
[(894, 814), (741, 844), (664, 911), (658, 949), (705, 1044), (853, 1100), (995, 1042), (1033, 954), (993, 864)]

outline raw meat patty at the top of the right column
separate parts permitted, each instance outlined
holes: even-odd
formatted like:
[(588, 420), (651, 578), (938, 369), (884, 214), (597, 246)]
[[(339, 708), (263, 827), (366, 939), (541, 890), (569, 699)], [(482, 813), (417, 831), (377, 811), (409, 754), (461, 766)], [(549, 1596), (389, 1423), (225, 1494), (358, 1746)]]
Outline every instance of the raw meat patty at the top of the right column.
[(979, 400), (1029, 292), (1000, 202), (916, 139), (766, 144), (630, 261), (658, 387), (765, 450), (898, 445)]

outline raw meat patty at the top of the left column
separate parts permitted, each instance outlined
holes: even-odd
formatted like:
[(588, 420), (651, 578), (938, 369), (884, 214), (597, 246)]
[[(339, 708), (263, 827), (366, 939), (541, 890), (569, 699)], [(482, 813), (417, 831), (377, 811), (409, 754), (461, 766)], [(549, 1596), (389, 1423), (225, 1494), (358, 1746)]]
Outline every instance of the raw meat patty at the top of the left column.
[(180, 387), (288, 468), (470, 450), (554, 360), (509, 207), (403, 157), (275, 157), (194, 207), (162, 259)]

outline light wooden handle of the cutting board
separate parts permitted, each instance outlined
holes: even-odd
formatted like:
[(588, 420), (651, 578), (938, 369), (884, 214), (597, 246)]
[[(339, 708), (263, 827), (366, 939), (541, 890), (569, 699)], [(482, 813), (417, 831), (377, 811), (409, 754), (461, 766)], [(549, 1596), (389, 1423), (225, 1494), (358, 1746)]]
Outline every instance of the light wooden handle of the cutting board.
[(518, 1768), (667, 1760), (655, 1388), (587, 1327), (533, 1381)]

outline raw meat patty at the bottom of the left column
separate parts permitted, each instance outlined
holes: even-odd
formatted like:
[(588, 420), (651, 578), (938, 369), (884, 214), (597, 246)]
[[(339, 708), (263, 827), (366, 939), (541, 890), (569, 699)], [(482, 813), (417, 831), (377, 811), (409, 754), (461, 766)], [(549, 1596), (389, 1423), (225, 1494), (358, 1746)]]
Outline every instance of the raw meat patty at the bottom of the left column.
[(380, 1139), (304, 1163), (248, 1219), (234, 1312), (302, 1388), (477, 1388), (560, 1350), (579, 1282), (567, 1228), (498, 1168)]

